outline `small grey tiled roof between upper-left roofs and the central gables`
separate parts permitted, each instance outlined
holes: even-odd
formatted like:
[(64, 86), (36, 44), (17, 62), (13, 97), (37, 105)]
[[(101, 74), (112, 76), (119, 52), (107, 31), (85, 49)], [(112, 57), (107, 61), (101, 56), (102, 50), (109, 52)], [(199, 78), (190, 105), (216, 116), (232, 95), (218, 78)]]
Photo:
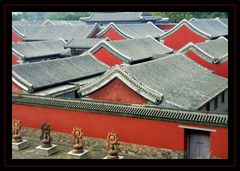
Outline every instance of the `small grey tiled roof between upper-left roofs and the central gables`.
[(90, 49), (102, 40), (104, 40), (104, 39), (102, 39), (102, 38), (86, 38), (86, 39), (73, 38), (65, 45), (65, 47)]

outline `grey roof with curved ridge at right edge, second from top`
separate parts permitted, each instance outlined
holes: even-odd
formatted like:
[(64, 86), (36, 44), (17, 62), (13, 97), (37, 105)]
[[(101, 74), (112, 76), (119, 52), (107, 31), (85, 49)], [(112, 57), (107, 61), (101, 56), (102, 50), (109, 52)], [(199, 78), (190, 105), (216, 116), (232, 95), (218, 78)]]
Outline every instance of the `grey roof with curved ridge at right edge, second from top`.
[(189, 43), (179, 51), (186, 53), (190, 50), (193, 50), (210, 63), (222, 63), (228, 60), (228, 40), (224, 37), (202, 43)]

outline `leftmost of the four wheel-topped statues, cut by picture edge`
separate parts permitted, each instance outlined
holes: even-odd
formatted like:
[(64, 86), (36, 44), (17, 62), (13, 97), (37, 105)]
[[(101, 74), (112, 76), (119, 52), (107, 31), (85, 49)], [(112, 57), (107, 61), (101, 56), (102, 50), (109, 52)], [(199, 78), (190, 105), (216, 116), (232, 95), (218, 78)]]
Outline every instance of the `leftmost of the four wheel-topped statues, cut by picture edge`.
[(19, 119), (13, 120), (12, 122), (13, 143), (22, 142), (21, 126), (22, 123)]

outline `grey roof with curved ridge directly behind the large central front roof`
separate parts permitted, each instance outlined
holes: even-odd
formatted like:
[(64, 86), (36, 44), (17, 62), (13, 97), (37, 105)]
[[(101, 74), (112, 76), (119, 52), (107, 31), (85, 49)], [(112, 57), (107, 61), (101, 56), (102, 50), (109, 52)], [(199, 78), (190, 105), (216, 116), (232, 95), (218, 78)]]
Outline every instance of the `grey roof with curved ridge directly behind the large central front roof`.
[(145, 59), (163, 57), (173, 52), (171, 48), (168, 48), (152, 37), (108, 42), (102, 41), (90, 49), (89, 52), (94, 54), (102, 47), (129, 64)]

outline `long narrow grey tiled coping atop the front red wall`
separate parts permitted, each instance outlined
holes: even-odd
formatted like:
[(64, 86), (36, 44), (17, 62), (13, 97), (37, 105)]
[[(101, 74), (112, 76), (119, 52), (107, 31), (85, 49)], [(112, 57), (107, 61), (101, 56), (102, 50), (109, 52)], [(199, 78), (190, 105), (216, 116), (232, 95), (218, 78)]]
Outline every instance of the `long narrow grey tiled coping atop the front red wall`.
[(64, 110), (90, 111), (99, 114), (108, 114), (124, 117), (134, 117), (150, 120), (163, 120), (178, 123), (193, 123), (198, 125), (211, 125), (228, 127), (226, 113), (212, 113), (195, 110), (175, 110), (146, 105), (130, 105), (103, 103), (79, 99), (59, 99), (32, 95), (12, 94), (13, 104), (44, 106), (49, 108), (63, 108)]

